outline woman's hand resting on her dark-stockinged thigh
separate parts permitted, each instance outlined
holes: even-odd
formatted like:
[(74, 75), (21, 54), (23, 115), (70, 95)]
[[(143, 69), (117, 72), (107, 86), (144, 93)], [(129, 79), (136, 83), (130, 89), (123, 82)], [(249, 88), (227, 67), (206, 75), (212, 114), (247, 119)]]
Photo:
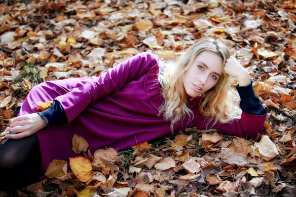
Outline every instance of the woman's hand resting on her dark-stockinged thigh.
[(6, 128), (6, 131), (15, 132), (16, 134), (6, 134), (5, 137), (20, 139), (32, 135), (46, 126), (46, 120), (37, 113), (18, 116)]

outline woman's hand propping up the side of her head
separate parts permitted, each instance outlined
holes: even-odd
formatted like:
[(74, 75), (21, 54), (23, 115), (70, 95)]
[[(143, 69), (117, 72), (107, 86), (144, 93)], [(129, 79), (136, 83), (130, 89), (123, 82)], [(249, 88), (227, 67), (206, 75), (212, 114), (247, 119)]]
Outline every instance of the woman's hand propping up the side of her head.
[(237, 79), (240, 87), (251, 84), (248, 70), (242, 66), (234, 57), (226, 60), (224, 70), (227, 74)]

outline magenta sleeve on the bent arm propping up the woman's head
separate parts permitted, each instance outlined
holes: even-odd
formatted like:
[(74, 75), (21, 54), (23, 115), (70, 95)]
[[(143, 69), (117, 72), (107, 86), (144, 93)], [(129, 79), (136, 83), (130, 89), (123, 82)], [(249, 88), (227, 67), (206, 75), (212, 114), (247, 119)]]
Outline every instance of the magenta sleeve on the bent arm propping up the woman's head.
[(263, 134), (262, 128), (266, 118), (267, 111), (264, 109), (265, 114), (254, 115), (242, 111), (241, 119), (234, 119), (226, 124), (217, 123), (213, 129), (217, 129), (222, 133), (234, 135), (238, 137), (246, 137), (247, 135), (253, 139), (257, 134)]

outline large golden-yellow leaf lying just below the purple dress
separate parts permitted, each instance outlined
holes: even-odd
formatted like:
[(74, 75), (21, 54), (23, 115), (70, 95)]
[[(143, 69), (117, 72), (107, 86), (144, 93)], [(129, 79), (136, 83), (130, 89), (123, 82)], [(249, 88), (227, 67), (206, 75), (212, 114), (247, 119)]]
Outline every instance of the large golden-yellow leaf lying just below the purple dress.
[(82, 182), (87, 182), (92, 178), (91, 162), (84, 157), (69, 158), (70, 167), (75, 176)]

